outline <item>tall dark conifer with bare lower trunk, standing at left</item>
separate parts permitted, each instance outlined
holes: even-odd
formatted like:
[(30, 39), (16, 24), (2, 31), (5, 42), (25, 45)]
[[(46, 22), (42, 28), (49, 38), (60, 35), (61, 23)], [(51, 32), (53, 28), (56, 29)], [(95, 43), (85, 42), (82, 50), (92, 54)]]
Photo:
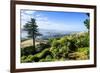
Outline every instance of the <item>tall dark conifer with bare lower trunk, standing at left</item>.
[(35, 38), (40, 35), (40, 33), (38, 32), (38, 26), (36, 25), (36, 20), (34, 18), (31, 18), (30, 21), (28, 21), (25, 25), (24, 25), (24, 30), (28, 31), (28, 37), (33, 38), (33, 47), (35, 48)]

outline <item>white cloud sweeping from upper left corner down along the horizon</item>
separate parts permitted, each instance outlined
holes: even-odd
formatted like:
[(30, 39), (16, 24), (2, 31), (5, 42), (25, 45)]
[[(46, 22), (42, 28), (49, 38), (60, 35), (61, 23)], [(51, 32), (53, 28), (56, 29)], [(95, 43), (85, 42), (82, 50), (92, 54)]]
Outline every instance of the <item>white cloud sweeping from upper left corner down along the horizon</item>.
[[(46, 16), (43, 16), (40, 13), (37, 13), (36, 11), (22, 11), (21, 12), (21, 27), (23, 28), (23, 25), (27, 21), (30, 21), (31, 18), (36, 19), (36, 23), (38, 25), (38, 28), (40, 29), (50, 29), (50, 30), (62, 30), (62, 31), (71, 31), (77, 30), (77, 27), (73, 27), (73, 25), (67, 25), (65, 23), (59, 23), (59, 22), (52, 22), (50, 19)], [(83, 27), (80, 26), (80, 30), (83, 29)]]

